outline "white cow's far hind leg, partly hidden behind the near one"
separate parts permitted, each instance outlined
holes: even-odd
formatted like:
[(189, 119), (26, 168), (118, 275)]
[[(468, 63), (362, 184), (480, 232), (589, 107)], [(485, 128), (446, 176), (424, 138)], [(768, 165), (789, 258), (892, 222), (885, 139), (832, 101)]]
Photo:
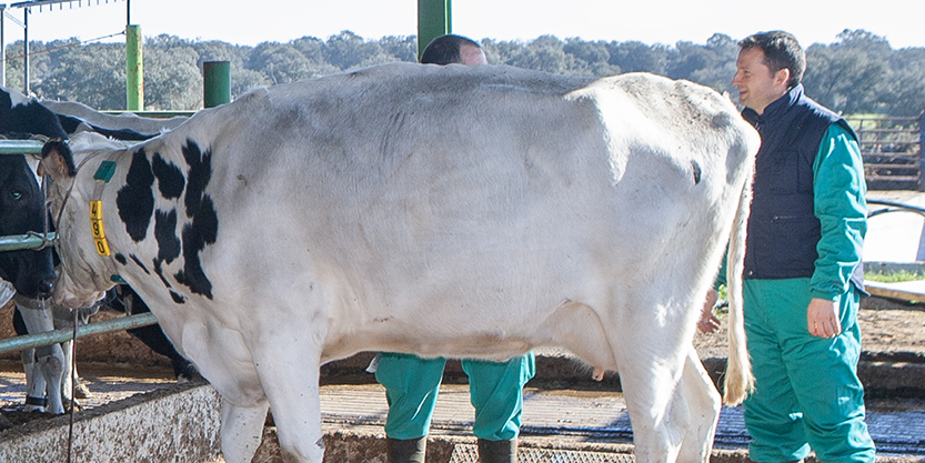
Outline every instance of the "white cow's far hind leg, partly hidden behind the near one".
[(722, 399), (701, 363), (693, 344), (684, 363), (681, 391), (691, 414), (691, 425), (681, 443), (680, 462), (708, 462), (720, 420)]

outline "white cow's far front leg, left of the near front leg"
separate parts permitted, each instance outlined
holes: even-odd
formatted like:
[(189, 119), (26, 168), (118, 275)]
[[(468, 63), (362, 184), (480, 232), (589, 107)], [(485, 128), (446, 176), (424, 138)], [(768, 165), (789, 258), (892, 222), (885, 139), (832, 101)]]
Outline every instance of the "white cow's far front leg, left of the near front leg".
[(241, 406), (222, 397), (222, 455), (228, 463), (249, 463), (263, 437), (269, 403)]

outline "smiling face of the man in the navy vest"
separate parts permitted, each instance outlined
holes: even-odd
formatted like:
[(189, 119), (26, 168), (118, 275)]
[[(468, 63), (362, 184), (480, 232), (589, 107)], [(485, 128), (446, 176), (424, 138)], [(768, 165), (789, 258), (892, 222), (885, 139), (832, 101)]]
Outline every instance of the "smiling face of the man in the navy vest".
[(752, 108), (758, 114), (778, 98), (787, 93), (790, 70), (772, 73), (764, 64), (764, 51), (750, 48), (738, 52), (733, 87), (738, 89), (738, 103)]

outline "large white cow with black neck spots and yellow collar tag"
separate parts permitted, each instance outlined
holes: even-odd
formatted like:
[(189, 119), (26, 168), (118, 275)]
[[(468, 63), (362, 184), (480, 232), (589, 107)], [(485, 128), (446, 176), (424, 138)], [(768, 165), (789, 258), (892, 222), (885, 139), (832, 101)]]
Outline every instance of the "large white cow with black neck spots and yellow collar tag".
[(714, 91), (648, 74), (389, 64), (259, 89), (132, 149), (46, 145), (54, 295), (128, 281), (222, 395), (229, 462), (268, 405), (286, 461), (321, 462), (324, 362), (542, 345), (620, 369), (636, 461), (706, 461), (720, 396), (692, 339), (732, 235), (741, 401), (757, 145)]

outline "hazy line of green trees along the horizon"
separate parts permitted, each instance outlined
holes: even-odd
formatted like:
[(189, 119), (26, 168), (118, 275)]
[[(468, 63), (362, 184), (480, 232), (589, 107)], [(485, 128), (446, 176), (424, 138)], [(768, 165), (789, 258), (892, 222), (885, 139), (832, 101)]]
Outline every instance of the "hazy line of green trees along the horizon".
[[(806, 92), (844, 113), (917, 115), (925, 109), (925, 48), (894, 50), (886, 39), (845, 30), (834, 43), (806, 49)], [(547, 72), (611, 76), (645, 71), (687, 79), (735, 93), (730, 81), (736, 41), (714, 34), (706, 43), (674, 46), (636, 41), (561, 40), (529, 42), (483, 39), (492, 64)], [(30, 42), (32, 92), (42, 99), (79, 101), (99, 109), (125, 104), (125, 49), (120, 43), (78, 40)], [(149, 110), (194, 110), (202, 105), (204, 61), (230, 61), (232, 94), (258, 85), (311, 79), (393, 61), (415, 61), (416, 38), (364, 40), (350, 31), (326, 40), (303, 37), (288, 43), (243, 47), (158, 36), (144, 41), (144, 102)], [(22, 89), (22, 41), (7, 47), (7, 87)]]

